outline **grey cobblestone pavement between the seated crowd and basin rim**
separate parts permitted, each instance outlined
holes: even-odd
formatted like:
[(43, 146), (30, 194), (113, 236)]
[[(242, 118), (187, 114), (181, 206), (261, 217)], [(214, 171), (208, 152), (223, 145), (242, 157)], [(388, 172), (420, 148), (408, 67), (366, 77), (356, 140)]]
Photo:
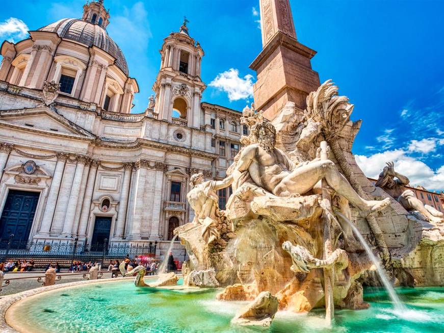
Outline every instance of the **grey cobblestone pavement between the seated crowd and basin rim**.
[[(83, 274), (87, 273), (87, 271), (82, 271), (80, 273), (82, 273), (82, 274), (79, 274), (79, 275), (72, 274), (71, 275), (71, 273), (68, 271), (62, 271), (57, 274), (57, 275), (61, 274), (62, 279), (60, 281), (56, 281), (56, 284), (59, 285), (59, 284), (64, 284), (64, 283), (69, 283), (69, 282), (77, 282), (77, 281), (86, 280), (85, 278), (83, 278)], [(29, 272), (29, 273), (5, 273), (5, 279), (3, 280), (4, 286), (5, 286), (5, 281), (7, 279), (11, 279), (11, 278), (12, 279), (10, 280), (9, 286), (2, 288), (2, 291), (0, 292), (0, 298), (3, 296), (6, 296), (6, 295), (20, 293), (25, 290), (30, 290), (30, 289), (42, 287), (44, 277), (42, 277), (42, 282), (38, 282), (37, 278), (39, 276), (44, 276), (44, 275), (45, 275), (44, 271)], [(29, 277), (29, 278), (15, 280), (15, 278), (17, 278), (17, 277)], [(102, 278), (110, 278), (110, 277), (111, 277), (111, 272), (103, 272)]]

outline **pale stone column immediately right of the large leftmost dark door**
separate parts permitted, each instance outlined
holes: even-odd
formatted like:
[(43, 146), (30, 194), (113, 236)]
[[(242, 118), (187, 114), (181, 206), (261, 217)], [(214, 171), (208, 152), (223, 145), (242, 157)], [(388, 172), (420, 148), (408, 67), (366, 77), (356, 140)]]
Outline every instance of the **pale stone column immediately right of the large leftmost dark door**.
[(53, 222), (53, 216), (57, 197), (59, 195), (60, 184), (62, 182), (63, 169), (65, 168), (65, 162), (68, 159), (66, 153), (60, 152), (57, 154), (57, 164), (54, 170), (53, 180), (49, 187), (48, 198), (46, 199), (45, 211), (43, 212), (43, 219), (40, 225), (38, 236), (49, 236), (49, 230), (51, 223)]

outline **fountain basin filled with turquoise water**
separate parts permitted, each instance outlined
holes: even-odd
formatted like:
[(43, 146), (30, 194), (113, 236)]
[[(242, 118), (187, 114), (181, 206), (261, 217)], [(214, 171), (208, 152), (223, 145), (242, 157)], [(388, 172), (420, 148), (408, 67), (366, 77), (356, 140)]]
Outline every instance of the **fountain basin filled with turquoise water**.
[[(146, 279), (149, 283), (151, 279)], [(89, 282), (89, 281), (87, 281)], [(181, 281), (179, 281), (180, 283)], [(278, 312), (269, 328), (231, 324), (248, 302), (217, 301), (221, 289), (183, 286), (135, 288), (132, 278), (94, 283), (53, 286), (50, 291), (28, 297), (14, 295), (6, 311), (5, 332), (385, 332), (439, 331), (444, 324), (444, 288), (400, 288), (397, 292), (410, 315), (398, 317), (383, 290), (367, 290), (368, 310), (336, 310), (335, 322), (327, 327), (322, 309), (308, 314)], [(45, 287), (50, 288), (50, 287)], [(42, 288), (44, 289), (44, 288)], [(33, 291), (29, 291), (33, 292)], [(21, 294), (29, 293), (24, 292)], [(2, 299), (0, 306), (6, 306)]]

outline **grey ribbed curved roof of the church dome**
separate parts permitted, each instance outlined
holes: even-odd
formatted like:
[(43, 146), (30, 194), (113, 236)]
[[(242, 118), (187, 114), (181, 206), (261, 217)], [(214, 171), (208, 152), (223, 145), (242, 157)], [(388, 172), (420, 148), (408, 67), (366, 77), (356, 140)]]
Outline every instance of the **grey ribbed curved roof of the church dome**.
[(97, 24), (76, 19), (63, 18), (40, 28), (39, 31), (55, 32), (63, 39), (73, 40), (88, 46), (95, 45), (116, 58), (116, 65), (128, 75), (128, 65), (119, 46)]

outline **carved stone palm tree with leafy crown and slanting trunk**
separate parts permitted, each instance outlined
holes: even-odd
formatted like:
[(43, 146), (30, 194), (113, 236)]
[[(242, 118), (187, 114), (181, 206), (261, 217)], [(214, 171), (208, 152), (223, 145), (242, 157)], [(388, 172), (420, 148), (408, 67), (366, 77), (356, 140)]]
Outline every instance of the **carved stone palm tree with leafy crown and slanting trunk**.
[[(307, 96), (307, 108), (304, 110), (306, 118), (311, 118), (321, 123), (321, 133), (331, 148), (337, 163), (343, 170), (348, 181), (359, 196), (369, 199), (369, 195), (359, 184), (349, 162), (346, 159), (344, 149), (339, 145), (339, 134), (344, 131), (345, 125), (350, 121), (350, 115), (353, 112), (353, 104), (349, 103), (346, 96), (338, 96), (338, 88), (327, 80), (317, 91), (312, 91)], [(376, 218), (372, 215), (367, 217), (370, 229), (375, 236), (377, 245), (382, 251), (383, 260), (387, 263), (389, 253), (387, 245), (382, 236)]]

